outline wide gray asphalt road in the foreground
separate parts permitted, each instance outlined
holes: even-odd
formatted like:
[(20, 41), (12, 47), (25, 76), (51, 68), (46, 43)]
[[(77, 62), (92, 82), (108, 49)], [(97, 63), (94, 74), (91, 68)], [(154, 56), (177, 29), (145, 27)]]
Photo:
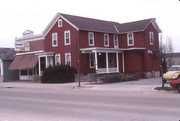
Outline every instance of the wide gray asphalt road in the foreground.
[(176, 92), (0, 88), (0, 121), (179, 121)]

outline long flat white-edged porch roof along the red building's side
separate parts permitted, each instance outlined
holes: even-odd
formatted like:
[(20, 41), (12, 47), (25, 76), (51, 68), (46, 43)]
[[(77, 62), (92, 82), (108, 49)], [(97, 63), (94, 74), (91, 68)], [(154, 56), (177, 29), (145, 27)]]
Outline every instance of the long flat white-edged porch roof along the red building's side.
[(104, 48), (104, 47), (92, 47), (92, 48), (81, 48), (82, 53), (92, 53), (92, 52), (112, 52), (112, 53), (122, 53), (123, 51), (129, 50), (145, 50), (145, 48)]

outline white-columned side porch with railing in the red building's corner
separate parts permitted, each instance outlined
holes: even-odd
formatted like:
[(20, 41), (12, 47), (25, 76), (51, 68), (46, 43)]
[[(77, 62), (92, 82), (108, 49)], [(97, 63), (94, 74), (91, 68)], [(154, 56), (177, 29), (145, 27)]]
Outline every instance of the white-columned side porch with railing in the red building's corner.
[(116, 48), (83, 48), (83, 54), (89, 54), (90, 68), (95, 69), (96, 74), (119, 73), (119, 53)]

